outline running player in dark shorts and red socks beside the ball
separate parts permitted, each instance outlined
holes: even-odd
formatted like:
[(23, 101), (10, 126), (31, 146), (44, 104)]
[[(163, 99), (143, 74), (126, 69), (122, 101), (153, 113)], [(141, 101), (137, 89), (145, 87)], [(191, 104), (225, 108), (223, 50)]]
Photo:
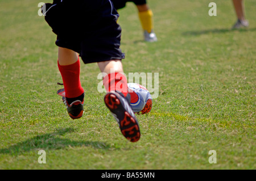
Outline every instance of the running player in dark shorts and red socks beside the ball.
[(64, 89), (58, 91), (72, 119), (84, 113), (84, 89), (80, 82), (80, 60), (84, 64), (97, 62), (106, 76), (106, 107), (119, 124), (123, 136), (131, 142), (139, 140), (139, 124), (130, 107), (127, 79), (122, 74), (118, 13), (110, 0), (54, 0), (43, 8), (46, 22), (57, 35), (59, 47), (57, 65)]

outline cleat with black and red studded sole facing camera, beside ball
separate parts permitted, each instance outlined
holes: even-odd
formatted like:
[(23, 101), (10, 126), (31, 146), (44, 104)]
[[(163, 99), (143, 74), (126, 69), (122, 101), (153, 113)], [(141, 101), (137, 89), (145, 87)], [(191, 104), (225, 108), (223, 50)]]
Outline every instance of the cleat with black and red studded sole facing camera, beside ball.
[(121, 92), (108, 92), (104, 97), (104, 102), (117, 120), (123, 136), (131, 142), (136, 142), (141, 137), (141, 132), (137, 118), (131, 110), (129, 98), (130, 94), (127, 94), (125, 98)]

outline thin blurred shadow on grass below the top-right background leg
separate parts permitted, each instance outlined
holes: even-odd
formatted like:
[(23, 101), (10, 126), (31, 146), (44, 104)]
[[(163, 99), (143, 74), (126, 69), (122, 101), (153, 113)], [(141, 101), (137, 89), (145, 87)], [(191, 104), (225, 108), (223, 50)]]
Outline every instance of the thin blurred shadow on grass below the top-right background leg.
[(226, 32), (233, 32), (233, 31), (240, 31), (240, 32), (248, 32), (248, 31), (255, 31), (256, 28), (241, 28), (239, 30), (232, 30), (231, 28), (223, 28), (223, 29), (211, 29), (211, 30), (200, 30), (200, 31), (186, 31), (183, 32), (182, 35), (190, 36), (190, 35), (204, 35), (209, 33), (226, 33)]

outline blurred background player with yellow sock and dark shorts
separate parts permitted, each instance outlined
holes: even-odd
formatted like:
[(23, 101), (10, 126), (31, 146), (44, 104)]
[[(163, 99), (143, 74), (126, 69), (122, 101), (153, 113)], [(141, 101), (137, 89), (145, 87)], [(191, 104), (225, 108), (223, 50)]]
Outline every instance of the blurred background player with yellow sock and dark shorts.
[(153, 42), (157, 41), (157, 37), (154, 33), (154, 21), (153, 13), (148, 7), (146, 0), (111, 0), (114, 4), (115, 9), (119, 10), (126, 6), (126, 2), (133, 2), (138, 9), (139, 20), (141, 21), (144, 40)]

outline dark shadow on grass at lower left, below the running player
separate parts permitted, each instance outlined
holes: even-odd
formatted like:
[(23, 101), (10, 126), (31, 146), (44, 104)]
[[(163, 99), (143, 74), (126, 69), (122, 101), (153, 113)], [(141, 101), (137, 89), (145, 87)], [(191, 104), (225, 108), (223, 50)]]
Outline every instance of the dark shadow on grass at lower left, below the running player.
[(0, 154), (16, 155), (30, 150), (57, 150), (66, 147), (75, 146), (91, 146), (94, 149), (108, 150), (110, 145), (98, 141), (72, 141), (58, 136), (63, 136), (65, 133), (74, 132), (73, 128), (58, 129), (56, 132), (43, 134), (40, 136), (32, 137), (26, 141), (19, 142), (18, 144), (11, 145), (9, 148), (0, 149)]

